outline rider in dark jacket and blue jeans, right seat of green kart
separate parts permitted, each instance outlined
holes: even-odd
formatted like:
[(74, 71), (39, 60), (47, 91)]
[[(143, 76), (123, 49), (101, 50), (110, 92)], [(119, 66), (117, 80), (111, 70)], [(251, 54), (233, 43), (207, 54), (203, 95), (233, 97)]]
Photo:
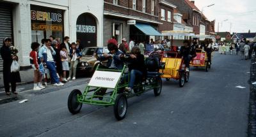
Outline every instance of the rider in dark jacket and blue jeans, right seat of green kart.
[(125, 87), (125, 90), (131, 92), (136, 80), (139, 80), (147, 75), (147, 68), (145, 65), (144, 55), (141, 54), (138, 46), (132, 48), (130, 57), (125, 60), (126, 62), (129, 62), (128, 68), (130, 72), (129, 85), (128, 87)]

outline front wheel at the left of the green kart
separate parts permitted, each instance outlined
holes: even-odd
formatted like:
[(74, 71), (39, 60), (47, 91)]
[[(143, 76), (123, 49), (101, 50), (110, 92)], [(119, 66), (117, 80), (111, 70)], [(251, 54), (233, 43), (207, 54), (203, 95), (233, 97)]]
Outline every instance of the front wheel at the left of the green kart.
[(83, 104), (77, 101), (77, 95), (81, 96), (82, 92), (78, 89), (72, 90), (68, 96), (68, 110), (72, 114), (79, 113)]

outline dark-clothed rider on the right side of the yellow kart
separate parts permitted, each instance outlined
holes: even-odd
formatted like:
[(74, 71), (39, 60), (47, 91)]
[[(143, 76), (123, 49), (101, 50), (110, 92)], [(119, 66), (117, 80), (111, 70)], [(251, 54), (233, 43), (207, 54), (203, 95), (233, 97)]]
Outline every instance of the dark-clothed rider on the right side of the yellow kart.
[(184, 64), (186, 66), (186, 71), (189, 71), (189, 62), (193, 57), (196, 56), (195, 54), (195, 48), (191, 48), (191, 44), (189, 40), (184, 40), (183, 41), (183, 46), (180, 48), (179, 52), (180, 56), (183, 57), (184, 59)]

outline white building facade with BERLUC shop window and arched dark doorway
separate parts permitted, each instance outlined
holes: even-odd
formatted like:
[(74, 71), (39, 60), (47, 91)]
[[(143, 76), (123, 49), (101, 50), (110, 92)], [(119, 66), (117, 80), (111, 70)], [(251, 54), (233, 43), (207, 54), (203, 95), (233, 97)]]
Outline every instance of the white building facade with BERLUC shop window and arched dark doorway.
[[(20, 66), (29, 66), (32, 42), (54, 36), (84, 47), (103, 45), (103, 0), (4, 0), (0, 1), (0, 40), (13, 39)], [(2, 46), (2, 42), (0, 47)], [(0, 61), (2, 62), (2, 61)]]

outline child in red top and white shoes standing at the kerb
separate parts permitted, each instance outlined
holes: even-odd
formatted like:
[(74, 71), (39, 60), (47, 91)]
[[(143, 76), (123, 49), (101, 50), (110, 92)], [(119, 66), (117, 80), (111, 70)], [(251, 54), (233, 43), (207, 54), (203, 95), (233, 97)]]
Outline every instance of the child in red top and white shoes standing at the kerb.
[(45, 88), (41, 84), (42, 75), (40, 74), (40, 71), (39, 71), (38, 53), (37, 53), (39, 46), (40, 46), (39, 43), (36, 43), (36, 42), (31, 43), (32, 51), (29, 54), (29, 57), (30, 57), (29, 61), (30, 61), (32, 68), (34, 69), (34, 88), (33, 88), (33, 90), (41, 90), (41, 89)]

